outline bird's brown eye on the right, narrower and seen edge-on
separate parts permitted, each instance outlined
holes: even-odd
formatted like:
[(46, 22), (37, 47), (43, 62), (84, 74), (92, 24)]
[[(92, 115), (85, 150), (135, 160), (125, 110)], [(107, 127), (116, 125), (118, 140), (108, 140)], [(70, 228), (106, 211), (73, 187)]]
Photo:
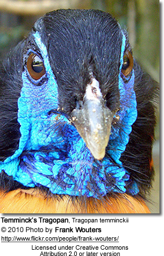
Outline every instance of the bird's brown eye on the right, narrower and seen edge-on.
[(127, 51), (123, 56), (122, 73), (124, 76), (130, 75), (133, 68), (133, 56)]

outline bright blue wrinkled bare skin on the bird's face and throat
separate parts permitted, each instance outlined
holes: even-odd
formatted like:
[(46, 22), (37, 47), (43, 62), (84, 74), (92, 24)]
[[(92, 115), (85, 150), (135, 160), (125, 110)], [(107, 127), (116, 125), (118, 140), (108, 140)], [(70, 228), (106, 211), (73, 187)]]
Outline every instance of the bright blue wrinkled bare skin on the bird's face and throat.
[[(133, 90), (134, 72), (127, 82), (122, 79), (123, 55), (126, 37), (123, 34), (120, 55), (119, 129), (111, 128), (111, 135), (103, 160), (95, 160), (76, 128), (58, 109), (58, 85), (51, 70), (48, 52), (41, 42), (39, 32), (33, 34), (40, 49), (46, 73), (40, 81), (32, 80), (28, 70), (22, 74), (23, 88), (18, 100), (20, 123), (19, 148), (15, 154), (0, 164), (0, 170), (12, 175), (14, 180), (27, 187), (48, 187), (58, 195), (87, 196), (100, 198), (109, 192), (128, 192), (136, 195), (139, 188), (124, 169), (120, 156), (126, 149), (132, 124), (137, 118), (136, 96)], [(29, 50), (27, 54), (33, 52)], [(51, 110), (54, 110), (52, 112)], [(94, 171), (93, 171), (94, 170)], [(114, 183), (107, 182), (107, 176)], [(92, 185), (97, 184), (95, 188)], [(127, 183), (131, 185), (127, 186)]]

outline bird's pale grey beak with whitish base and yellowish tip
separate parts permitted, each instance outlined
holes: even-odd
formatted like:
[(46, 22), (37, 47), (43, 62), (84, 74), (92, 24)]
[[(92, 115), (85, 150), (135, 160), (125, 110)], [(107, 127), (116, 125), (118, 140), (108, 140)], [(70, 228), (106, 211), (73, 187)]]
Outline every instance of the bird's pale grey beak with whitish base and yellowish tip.
[(105, 106), (98, 81), (93, 78), (87, 85), (83, 106), (72, 111), (71, 121), (98, 160), (105, 156), (113, 117), (114, 113)]

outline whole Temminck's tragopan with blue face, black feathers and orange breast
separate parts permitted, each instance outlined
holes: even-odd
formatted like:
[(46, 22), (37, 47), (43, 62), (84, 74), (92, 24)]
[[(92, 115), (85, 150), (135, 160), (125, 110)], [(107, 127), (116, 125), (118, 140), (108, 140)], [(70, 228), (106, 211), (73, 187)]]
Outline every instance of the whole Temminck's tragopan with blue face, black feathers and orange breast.
[(0, 67), (1, 213), (150, 213), (158, 83), (100, 10), (39, 18)]

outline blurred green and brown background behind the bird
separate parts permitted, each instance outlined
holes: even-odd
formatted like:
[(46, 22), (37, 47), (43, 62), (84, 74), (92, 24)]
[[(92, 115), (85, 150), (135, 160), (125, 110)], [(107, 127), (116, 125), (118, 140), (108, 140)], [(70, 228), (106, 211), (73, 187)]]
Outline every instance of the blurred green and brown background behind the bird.
[[(56, 9), (99, 9), (112, 14), (127, 28), (133, 55), (159, 82), (158, 0), (0, 0), (0, 57), (28, 35), (34, 22)], [(159, 110), (159, 108), (158, 108)], [(150, 196), (152, 213), (159, 213), (159, 111), (153, 148), (156, 177)]]

